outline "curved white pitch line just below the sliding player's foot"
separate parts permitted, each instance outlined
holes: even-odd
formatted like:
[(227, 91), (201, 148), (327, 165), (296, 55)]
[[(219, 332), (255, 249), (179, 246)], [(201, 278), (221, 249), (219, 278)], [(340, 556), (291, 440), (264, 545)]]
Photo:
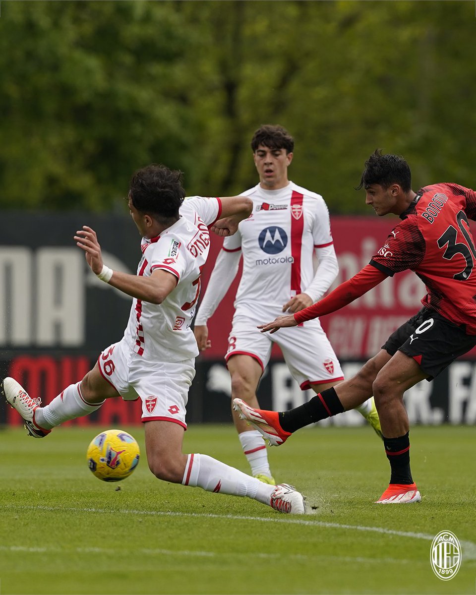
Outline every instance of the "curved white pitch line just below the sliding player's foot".
[[(198, 512), (170, 512), (170, 511), (136, 511), (133, 509), (105, 509), (105, 508), (74, 508), (73, 506), (9, 506), (20, 510), (42, 510), (51, 512), (91, 512), (99, 514), (132, 514), (132, 515), (145, 515), (145, 516), (186, 516), (192, 518), (216, 518), (216, 519), (228, 519), (231, 521), (259, 521), (259, 522), (280, 522), (292, 525), (305, 525), (307, 527), (325, 527), (334, 529), (349, 529), (353, 531), (369, 531), (372, 533), (382, 533), (384, 535), (395, 535), (397, 537), (410, 537), (412, 539), (423, 539), (425, 541), (433, 541), (434, 535), (426, 533), (414, 533), (413, 531), (396, 531), (394, 529), (386, 529), (384, 527), (365, 527), (362, 525), (347, 525), (335, 522), (326, 521), (311, 521), (303, 518), (289, 518), (287, 516), (274, 517), (263, 517), (263, 516), (236, 516), (236, 515), (217, 515), (217, 514), (206, 514)], [(463, 548), (463, 555), (465, 559), (476, 560), (476, 543), (472, 541), (459, 540)]]

